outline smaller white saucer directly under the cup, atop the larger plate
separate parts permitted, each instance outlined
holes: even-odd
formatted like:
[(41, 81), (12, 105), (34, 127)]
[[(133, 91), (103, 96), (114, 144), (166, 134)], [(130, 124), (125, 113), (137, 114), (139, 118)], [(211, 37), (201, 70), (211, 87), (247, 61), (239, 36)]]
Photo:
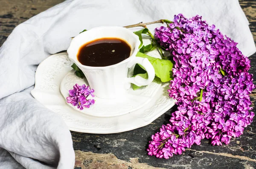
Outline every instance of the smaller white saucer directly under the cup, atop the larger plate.
[[(73, 89), (73, 85), (76, 83), (79, 85), (89, 85), (86, 78), (81, 79), (77, 77), (75, 70), (71, 70), (61, 81), (60, 89), (64, 99), (69, 97), (68, 90)], [(126, 94), (119, 96), (116, 99), (101, 99), (95, 96), (93, 99), (96, 100), (96, 103), (89, 109), (84, 108), (83, 110), (79, 110), (70, 103), (68, 103), (68, 105), (77, 111), (98, 117), (113, 117), (117, 115), (124, 115), (138, 110), (147, 104), (151, 98), (154, 97), (155, 93), (160, 89), (160, 87), (161, 84), (153, 81), (150, 85), (145, 86), (139, 90), (133, 90), (130, 88)]]

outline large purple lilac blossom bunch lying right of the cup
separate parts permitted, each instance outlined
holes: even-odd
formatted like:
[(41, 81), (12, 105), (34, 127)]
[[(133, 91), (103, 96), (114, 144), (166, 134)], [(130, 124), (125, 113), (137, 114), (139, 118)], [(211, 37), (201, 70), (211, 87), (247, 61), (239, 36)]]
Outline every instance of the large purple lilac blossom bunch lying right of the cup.
[(178, 108), (170, 124), (152, 135), (148, 155), (167, 159), (204, 138), (222, 145), (243, 134), (253, 121), (249, 94), (255, 86), (250, 60), (237, 43), (198, 15), (175, 15), (169, 27), (155, 29), (154, 37), (175, 61), (168, 91)]

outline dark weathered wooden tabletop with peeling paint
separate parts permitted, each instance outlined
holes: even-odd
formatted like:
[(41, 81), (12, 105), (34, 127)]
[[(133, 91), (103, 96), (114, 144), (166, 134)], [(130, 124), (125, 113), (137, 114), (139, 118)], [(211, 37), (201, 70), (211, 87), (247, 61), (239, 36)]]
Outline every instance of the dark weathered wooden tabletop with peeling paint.
[[(63, 0), (0, 0), (0, 46), (18, 24)], [(256, 1), (239, 0), (250, 22), (256, 41)], [(235, 11), (234, 11), (235, 12)], [(256, 54), (250, 56), (251, 69), (256, 77)], [(256, 84), (256, 81), (254, 81)], [(256, 90), (251, 94), (256, 104)], [(175, 109), (175, 108), (174, 108)], [(76, 150), (75, 169), (253, 169), (256, 168), (256, 121), (240, 138), (230, 145), (211, 146), (207, 140), (201, 146), (192, 146), (182, 155), (169, 160), (146, 154), (146, 145), (154, 132), (170, 118), (169, 110), (146, 127), (109, 135), (71, 132)], [(255, 108), (254, 108), (255, 112)]]

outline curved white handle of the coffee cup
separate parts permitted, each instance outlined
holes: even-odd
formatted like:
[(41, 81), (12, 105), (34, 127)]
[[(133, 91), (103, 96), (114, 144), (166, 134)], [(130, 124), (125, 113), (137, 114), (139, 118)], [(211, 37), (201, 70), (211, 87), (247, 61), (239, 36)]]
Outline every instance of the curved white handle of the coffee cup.
[(147, 58), (143, 58), (143, 57), (135, 57), (130, 63), (128, 63), (127, 67), (131, 68), (136, 63), (142, 65), (145, 68), (145, 70), (148, 73), (148, 79), (144, 79), (140, 76), (135, 76), (135, 77), (128, 78), (128, 82), (133, 83), (134, 85), (137, 85), (137, 86), (149, 85), (154, 80), (154, 76), (155, 76), (154, 67), (151, 65), (151, 63), (148, 61)]

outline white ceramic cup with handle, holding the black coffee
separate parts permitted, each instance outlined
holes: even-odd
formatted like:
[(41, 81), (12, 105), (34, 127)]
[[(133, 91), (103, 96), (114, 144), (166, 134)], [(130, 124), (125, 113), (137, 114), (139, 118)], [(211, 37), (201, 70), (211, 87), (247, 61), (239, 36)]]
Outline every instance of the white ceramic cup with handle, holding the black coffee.
[[(115, 65), (105, 67), (82, 65), (77, 59), (79, 48), (87, 42), (104, 37), (119, 38), (127, 42), (131, 46), (130, 57)], [(139, 37), (127, 28), (102, 26), (92, 28), (74, 37), (67, 49), (67, 53), (69, 58), (83, 71), (90, 88), (95, 90), (94, 94), (97, 97), (114, 99), (127, 92), (131, 87), (131, 83), (137, 86), (144, 86), (149, 85), (154, 79), (154, 68), (148, 59), (136, 57), (139, 45)], [(129, 68), (136, 63), (145, 68), (148, 73), (148, 79), (140, 76), (128, 77)]]

